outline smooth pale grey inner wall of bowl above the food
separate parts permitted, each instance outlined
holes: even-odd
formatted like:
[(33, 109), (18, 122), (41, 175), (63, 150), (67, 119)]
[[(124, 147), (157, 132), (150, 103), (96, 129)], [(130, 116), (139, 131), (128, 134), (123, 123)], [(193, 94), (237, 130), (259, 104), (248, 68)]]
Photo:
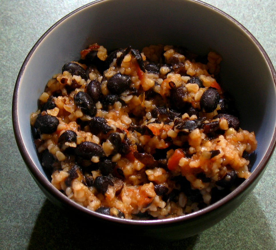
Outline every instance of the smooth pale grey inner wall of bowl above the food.
[[(241, 127), (255, 131), (258, 149), (253, 169), (275, 143), (275, 70), (249, 32), (221, 11), (200, 1), (105, 0), (74, 11), (49, 29), (25, 60), (15, 87), (13, 121), (25, 161), (45, 177), (29, 117), (47, 81), (79, 52), (97, 42), (108, 50), (132, 45), (182, 45), (197, 54), (218, 52), (221, 84), (236, 100)], [(274, 76), (275, 77), (275, 76)], [(17, 130), (18, 129), (18, 130)], [(269, 153), (267, 153), (269, 152)]]

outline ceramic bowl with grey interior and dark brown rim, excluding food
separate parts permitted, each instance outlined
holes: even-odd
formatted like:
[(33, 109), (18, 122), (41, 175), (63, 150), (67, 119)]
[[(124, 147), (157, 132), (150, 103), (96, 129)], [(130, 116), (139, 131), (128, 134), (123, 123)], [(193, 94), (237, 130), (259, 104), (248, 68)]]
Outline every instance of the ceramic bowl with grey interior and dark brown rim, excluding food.
[[(235, 98), (241, 127), (254, 131), (258, 148), (252, 175), (211, 206), (164, 220), (131, 221), (92, 212), (55, 189), (35, 151), (29, 117), (47, 81), (92, 42), (108, 50), (132, 45), (180, 44), (197, 54), (218, 52), (221, 84)], [(34, 180), (54, 204), (115, 231), (151, 239), (182, 239), (225, 218), (249, 195), (261, 178), (275, 147), (275, 69), (253, 35), (223, 11), (193, 0), (103, 0), (87, 4), (53, 25), (33, 46), (19, 72), (13, 96), (17, 144)], [(96, 222), (95, 222), (96, 223)]]

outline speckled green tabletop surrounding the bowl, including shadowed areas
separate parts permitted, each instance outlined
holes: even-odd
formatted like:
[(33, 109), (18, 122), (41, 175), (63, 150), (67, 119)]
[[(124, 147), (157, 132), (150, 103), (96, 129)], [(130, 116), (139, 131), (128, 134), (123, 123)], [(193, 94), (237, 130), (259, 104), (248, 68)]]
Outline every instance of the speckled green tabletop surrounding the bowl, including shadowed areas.
[[(276, 65), (275, 0), (205, 2), (244, 25)], [(117, 241), (110, 241), (108, 228), (78, 222), (45, 198), (15, 142), (13, 89), (25, 57), (40, 36), (86, 3), (89, 1), (0, 0), (0, 249), (276, 249), (275, 152), (241, 206), (215, 226), (181, 241), (145, 243), (133, 235), (134, 240), (125, 243), (123, 232)]]

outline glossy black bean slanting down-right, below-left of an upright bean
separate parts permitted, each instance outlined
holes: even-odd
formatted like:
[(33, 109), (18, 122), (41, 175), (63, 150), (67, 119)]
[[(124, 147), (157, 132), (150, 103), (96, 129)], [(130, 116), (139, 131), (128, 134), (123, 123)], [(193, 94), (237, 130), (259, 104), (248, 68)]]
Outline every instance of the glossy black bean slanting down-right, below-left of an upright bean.
[(74, 95), (74, 103), (85, 115), (94, 116), (97, 113), (96, 105), (91, 96), (83, 91)]

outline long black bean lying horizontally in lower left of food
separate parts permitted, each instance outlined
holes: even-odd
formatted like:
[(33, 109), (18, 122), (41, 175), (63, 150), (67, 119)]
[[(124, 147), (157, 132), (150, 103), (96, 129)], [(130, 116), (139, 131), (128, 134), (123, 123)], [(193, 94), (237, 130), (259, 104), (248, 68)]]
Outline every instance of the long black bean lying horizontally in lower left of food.
[(85, 159), (91, 159), (92, 156), (104, 156), (103, 148), (90, 141), (85, 141), (77, 145), (75, 148), (75, 154)]

